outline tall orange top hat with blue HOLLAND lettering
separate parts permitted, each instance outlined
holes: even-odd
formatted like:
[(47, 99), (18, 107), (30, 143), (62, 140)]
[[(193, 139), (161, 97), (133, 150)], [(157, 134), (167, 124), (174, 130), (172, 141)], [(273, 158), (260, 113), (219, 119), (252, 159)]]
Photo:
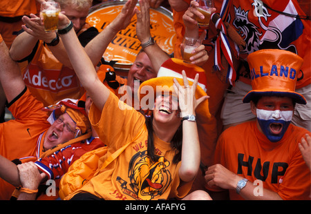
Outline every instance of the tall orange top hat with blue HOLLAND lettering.
[(303, 59), (287, 50), (265, 49), (247, 57), (252, 90), (243, 98), (248, 103), (256, 96), (291, 97), (298, 104), (307, 104), (303, 95), (296, 93), (296, 80)]

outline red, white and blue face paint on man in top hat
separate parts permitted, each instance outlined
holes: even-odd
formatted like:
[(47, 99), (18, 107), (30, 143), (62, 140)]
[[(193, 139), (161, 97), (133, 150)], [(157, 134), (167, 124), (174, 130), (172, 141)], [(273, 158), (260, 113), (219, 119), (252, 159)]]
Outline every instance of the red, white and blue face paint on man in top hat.
[(279, 142), (292, 121), (292, 110), (256, 109), (257, 121), (270, 142)]

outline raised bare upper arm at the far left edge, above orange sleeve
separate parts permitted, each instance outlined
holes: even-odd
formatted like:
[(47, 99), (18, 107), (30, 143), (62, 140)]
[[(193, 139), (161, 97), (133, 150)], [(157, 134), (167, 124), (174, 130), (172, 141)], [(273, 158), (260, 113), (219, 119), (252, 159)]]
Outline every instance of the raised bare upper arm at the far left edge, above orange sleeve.
[(25, 88), (19, 66), (9, 55), (6, 43), (0, 35), (0, 81), (8, 103)]

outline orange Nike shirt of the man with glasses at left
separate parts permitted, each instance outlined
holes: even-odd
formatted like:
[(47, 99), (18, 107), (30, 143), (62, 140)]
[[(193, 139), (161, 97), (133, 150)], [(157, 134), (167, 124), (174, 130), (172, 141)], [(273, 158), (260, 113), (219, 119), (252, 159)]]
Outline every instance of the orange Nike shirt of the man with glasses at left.
[[(9, 160), (39, 157), (44, 132), (50, 127), (43, 105), (25, 88), (8, 110), (15, 119), (0, 124), (0, 155)], [(14, 186), (0, 179), (0, 200), (9, 200)]]

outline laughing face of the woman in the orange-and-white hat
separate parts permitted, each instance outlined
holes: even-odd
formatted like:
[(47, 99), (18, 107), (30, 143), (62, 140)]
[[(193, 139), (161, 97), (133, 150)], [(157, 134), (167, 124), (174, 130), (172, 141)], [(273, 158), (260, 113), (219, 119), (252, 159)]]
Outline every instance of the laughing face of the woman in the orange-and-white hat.
[(163, 124), (180, 125), (178, 99), (173, 95), (157, 95), (153, 110), (153, 119)]

